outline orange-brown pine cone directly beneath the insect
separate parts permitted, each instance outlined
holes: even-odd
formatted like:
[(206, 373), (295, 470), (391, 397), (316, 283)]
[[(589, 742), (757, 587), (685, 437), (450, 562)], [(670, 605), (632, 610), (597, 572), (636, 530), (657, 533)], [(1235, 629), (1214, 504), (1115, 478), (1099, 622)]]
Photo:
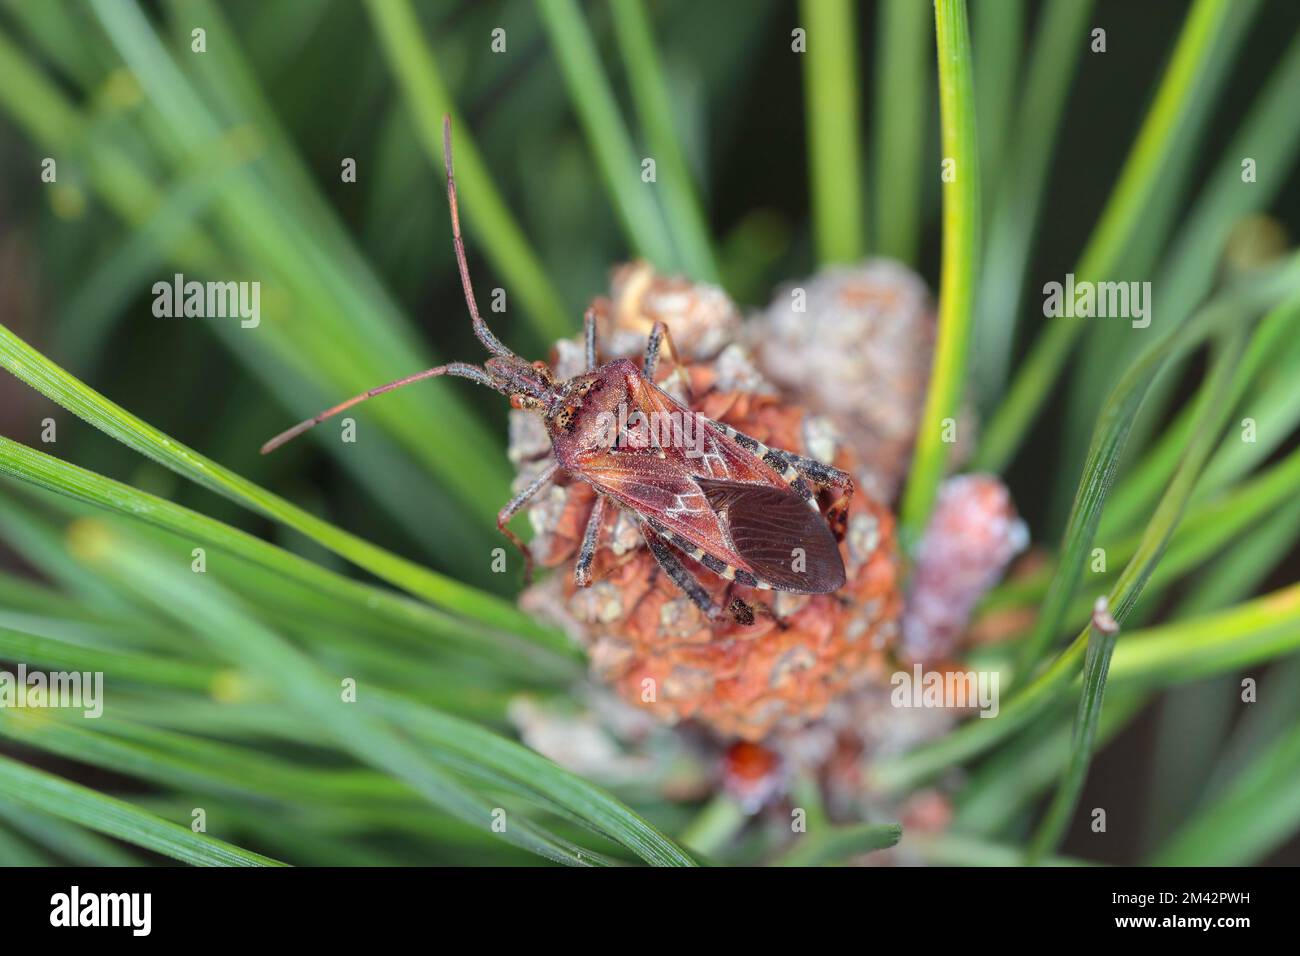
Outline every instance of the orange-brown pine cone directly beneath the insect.
[[(861, 462), (833, 427), (788, 402), (754, 368), (737, 341), (740, 315), (722, 291), (633, 264), (615, 272), (612, 298), (594, 308), (602, 362), (640, 359), (646, 333), (663, 320), (689, 375), (694, 411), (858, 475)], [(560, 377), (581, 371), (580, 342), (558, 342), (554, 358)], [(688, 398), (667, 356), (656, 378)], [(520, 486), (549, 460), (536, 416), (515, 414), (511, 457)], [(659, 570), (633, 516), (616, 507), (607, 510), (593, 581), (578, 588), (573, 563), (593, 501), (590, 486), (569, 477), (533, 503), (534, 557), (555, 571), (524, 602), (563, 623), (588, 649), (593, 674), (625, 701), (666, 723), (697, 721), (723, 737), (759, 740), (820, 717), (854, 687), (884, 680), (902, 609), (900, 564), (893, 516), (863, 489), (849, 503), (840, 544), (848, 580), (833, 594), (728, 591), (727, 581), (679, 555), (716, 604), (740, 597), (759, 610), (748, 626), (706, 618)]]

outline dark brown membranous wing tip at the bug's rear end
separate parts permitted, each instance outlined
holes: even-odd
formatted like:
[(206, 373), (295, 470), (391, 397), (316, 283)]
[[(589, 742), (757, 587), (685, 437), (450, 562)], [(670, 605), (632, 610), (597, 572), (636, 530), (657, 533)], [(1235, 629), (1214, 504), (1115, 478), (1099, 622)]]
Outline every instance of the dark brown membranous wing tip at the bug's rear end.
[(824, 594), (845, 583), (840, 546), (822, 515), (788, 488), (696, 479), (736, 554), (780, 591)]

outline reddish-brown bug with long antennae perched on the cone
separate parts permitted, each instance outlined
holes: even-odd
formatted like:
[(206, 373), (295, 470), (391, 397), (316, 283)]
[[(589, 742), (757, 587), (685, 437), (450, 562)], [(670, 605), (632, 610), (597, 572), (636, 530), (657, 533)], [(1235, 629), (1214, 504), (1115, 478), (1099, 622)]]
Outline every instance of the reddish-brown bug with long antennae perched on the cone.
[[(554, 460), (497, 515), (498, 529), (523, 553), (525, 572), (532, 570), (532, 555), (506, 525), (564, 471), (597, 493), (575, 567), (578, 587), (592, 583), (597, 538), (608, 502), (614, 502), (636, 518), (659, 567), (711, 619), (729, 614), (748, 624), (754, 611), (740, 598), (727, 602), (725, 610), (715, 605), (679, 555), (749, 588), (801, 594), (838, 591), (845, 571), (837, 537), (844, 533), (853, 480), (811, 458), (767, 447), (692, 411), (662, 389), (655, 372), (666, 349), (689, 395), (689, 381), (662, 321), (650, 332), (640, 367), (628, 359), (601, 365), (595, 313), (588, 310), (586, 372), (567, 381), (556, 381), (546, 363), (525, 362), (493, 334), (478, 312), (460, 237), (448, 117), (443, 117), (442, 137), (460, 282), (474, 334), (491, 358), (482, 367), (452, 362), (373, 388), (276, 436), (263, 445), (263, 454), (385, 392), (443, 375), (469, 378), (508, 397), (515, 408), (541, 414), (551, 438)], [(835, 494), (828, 518), (822, 516), (814, 488)]]

